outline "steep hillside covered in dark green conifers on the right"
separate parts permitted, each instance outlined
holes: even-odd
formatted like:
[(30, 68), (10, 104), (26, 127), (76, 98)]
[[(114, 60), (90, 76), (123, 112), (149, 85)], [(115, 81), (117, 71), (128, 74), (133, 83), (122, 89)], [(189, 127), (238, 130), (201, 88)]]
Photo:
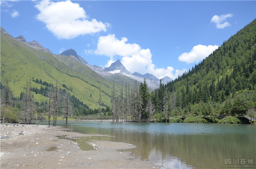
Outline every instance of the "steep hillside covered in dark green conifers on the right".
[(172, 115), (255, 113), (256, 19), (165, 88)]

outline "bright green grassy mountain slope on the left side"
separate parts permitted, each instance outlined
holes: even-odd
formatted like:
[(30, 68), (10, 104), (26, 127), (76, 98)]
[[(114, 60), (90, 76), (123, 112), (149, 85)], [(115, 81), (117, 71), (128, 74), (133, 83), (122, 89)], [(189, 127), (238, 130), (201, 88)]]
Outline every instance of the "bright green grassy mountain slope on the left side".
[[(83, 69), (84, 72), (76, 72), (49, 53), (1, 35), (1, 83), (5, 85), (5, 81), (8, 80), (15, 97), (24, 91), (26, 81), (29, 79), (42, 79), (52, 84), (55, 84), (57, 79), (61, 88), (63, 84), (73, 88), (70, 94), (92, 109), (98, 108), (98, 88), (101, 86), (105, 92), (102, 93), (102, 102), (110, 106), (110, 97), (107, 95), (111, 95), (113, 82), (105, 80), (89, 68)], [(41, 84), (31, 81), (31, 87), (40, 88)], [(116, 85), (116, 90), (119, 88), (121, 86)], [(34, 97), (38, 102), (44, 99), (40, 94), (34, 93)]]

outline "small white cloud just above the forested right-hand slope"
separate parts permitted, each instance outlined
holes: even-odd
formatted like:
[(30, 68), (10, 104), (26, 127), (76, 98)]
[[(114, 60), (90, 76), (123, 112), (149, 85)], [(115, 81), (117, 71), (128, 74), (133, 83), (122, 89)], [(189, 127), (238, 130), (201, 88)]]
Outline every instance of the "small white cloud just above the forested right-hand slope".
[(199, 62), (200, 60), (208, 57), (218, 47), (218, 45), (196, 45), (192, 50), (190, 50), (190, 52), (182, 53), (178, 59), (182, 62), (186, 62), (187, 64)]

